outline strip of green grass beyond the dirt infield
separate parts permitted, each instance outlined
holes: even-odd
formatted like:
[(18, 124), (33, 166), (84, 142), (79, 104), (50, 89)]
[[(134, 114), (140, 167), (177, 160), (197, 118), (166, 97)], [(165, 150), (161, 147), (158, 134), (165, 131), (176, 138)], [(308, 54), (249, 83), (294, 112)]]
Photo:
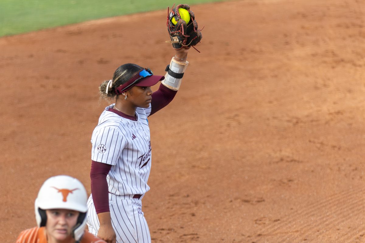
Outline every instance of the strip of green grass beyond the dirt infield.
[[(222, 0), (186, 0), (198, 4)], [(166, 0), (0, 0), (0, 36), (80, 23), (180, 4)]]

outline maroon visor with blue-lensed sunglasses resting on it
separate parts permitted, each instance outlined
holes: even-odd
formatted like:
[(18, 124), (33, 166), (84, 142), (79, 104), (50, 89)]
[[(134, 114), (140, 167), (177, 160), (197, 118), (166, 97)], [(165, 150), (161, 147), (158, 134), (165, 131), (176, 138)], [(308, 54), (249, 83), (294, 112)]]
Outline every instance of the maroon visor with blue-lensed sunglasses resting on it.
[(153, 75), (149, 68), (142, 69), (138, 74), (133, 76), (126, 83), (123, 83), (118, 88), (115, 89), (116, 94), (122, 94), (123, 92), (129, 90), (133, 86), (149, 87), (154, 86), (158, 81), (164, 80), (164, 76)]

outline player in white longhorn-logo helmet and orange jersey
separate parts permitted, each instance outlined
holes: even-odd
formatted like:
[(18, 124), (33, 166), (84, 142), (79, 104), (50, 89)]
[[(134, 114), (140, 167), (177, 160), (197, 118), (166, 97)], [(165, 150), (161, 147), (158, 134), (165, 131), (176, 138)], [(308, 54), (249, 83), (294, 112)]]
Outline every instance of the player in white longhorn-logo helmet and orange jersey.
[(103, 243), (85, 231), (86, 202), (86, 190), (77, 179), (47, 179), (34, 203), (38, 227), (21, 232), (16, 243)]

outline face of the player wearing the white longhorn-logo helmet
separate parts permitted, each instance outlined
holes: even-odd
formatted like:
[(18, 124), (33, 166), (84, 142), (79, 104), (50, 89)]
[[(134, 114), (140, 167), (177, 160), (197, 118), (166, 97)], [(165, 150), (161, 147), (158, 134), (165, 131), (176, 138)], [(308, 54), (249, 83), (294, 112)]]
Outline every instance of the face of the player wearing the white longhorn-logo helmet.
[(72, 240), (71, 229), (80, 213), (69, 209), (47, 209), (46, 232), (48, 242)]

